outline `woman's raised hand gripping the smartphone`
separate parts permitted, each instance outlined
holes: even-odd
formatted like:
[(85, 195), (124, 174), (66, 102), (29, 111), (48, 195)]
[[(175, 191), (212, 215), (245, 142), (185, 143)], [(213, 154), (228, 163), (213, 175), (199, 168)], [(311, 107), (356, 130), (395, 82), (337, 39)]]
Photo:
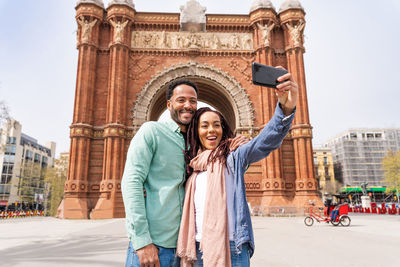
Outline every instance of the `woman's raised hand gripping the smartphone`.
[[(278, 69), (284, 69), (281, 66), (277, 66)], [(292, 74), (286, 73), (278, 78), (278, 82), (285, 81), (276, 86), (276, 96), (278, 97), (279, 103), (283, 109), (283, 113), (288, 116), (290, 115), (297, 104), (299, 86), (293, 80)]]

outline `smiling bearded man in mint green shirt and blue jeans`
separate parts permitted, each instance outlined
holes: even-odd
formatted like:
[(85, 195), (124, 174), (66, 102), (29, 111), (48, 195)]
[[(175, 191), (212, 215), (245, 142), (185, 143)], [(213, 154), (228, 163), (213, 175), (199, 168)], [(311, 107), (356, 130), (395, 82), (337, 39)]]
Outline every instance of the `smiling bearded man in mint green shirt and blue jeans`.
[(197, 92), (190, 81), (172, 83), (166, 94), (172, 120), (144, 123), (131, 141), (122, 177), (130, 239), (126, 266), (179, 266), (185, 132), (197, 109)]

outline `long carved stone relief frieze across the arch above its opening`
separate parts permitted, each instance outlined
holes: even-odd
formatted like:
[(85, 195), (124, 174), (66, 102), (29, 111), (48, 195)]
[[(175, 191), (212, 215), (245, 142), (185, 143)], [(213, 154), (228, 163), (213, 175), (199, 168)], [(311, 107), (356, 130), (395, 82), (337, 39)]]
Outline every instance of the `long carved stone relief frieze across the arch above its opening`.
[(191, 33), (137, 31), (132, 33), (132, 48), (252, 50), (251, 33)]

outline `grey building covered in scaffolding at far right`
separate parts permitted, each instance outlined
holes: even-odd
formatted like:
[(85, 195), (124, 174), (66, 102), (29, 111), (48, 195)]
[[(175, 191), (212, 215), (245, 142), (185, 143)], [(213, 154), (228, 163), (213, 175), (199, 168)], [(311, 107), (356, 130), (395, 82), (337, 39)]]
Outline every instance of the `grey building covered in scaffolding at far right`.
[(382, 158), (389, 150), (400, 149), (400, 129), (349, 129), (328, 140), (332, 149), (335, 176), (345, 186), (385, 186)]

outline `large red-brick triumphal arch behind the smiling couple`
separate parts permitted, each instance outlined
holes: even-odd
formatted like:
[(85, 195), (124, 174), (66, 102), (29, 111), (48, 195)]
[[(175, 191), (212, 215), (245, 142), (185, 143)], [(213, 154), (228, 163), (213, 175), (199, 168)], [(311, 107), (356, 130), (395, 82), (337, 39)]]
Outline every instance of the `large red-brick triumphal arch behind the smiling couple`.
[(272, 117), (272, 89), (251, 82), (251, 64), (281, 65), (299, 84), (296, 117), (280, 149), (250, 166), (252, 207), (302, 211), (319, 200), (312, 160), (303, 63), (304, 10), (287, 0), (276, 12), (255, 0), (249, 14), (206, 14), (189, 0), (180, 13), (138, 12), (132, 0), (79, 0), (79, 60), (64, 218), (124, 216), (121, 177), (129, 142), (166, 109), (165, 90), (180, 78), (221, 111), (237, 133), (256, 136)]

